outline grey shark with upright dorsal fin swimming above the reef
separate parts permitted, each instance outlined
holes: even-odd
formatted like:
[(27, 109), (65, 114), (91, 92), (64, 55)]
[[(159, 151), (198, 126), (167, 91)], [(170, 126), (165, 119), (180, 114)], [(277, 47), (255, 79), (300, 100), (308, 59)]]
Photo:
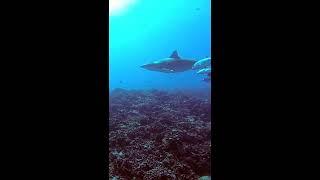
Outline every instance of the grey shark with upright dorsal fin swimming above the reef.
[(163, 73), (176, 73), (191, 70), (195, 60), (181, 59), (177, 50), (173, 51), (168, 58), (160, 59), (149, 64), (144, 64), (140, 67)]

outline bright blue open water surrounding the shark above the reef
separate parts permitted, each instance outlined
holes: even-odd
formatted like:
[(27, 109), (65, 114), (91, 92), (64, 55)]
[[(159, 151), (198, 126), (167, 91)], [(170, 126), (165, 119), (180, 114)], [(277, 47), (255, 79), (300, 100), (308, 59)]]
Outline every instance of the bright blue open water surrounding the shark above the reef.
[[(109, 87), (124, 89), (206, 89), (204, 76), (148, 71), (140, 66), (171, 55), (211, 57), (209, 0), (110, 0)], [(127, 3), (123, 5), (122, 3)], [(110, 4), (109, 4), (110, 5)], [(122, 8), (121, 8), (122, 7)]]

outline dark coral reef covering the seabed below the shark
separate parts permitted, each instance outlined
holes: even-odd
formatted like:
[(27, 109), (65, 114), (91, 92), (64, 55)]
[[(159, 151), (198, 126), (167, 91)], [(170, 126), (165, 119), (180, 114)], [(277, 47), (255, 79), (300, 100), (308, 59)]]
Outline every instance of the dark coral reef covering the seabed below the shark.
[(190, 92), (115, 89), (109, 113), (109, 179), (210, 175), (209, 99)]

